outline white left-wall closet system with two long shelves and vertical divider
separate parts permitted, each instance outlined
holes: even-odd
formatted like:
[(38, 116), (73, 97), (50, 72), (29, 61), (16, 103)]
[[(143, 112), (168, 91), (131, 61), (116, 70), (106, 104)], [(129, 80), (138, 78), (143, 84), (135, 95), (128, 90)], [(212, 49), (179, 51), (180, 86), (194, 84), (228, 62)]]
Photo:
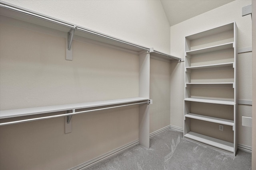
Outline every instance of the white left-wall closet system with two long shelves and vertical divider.
[[(133, 53), (138, 55), (139, 59), (139, 94), (135, 98), (124, 98), (118, 100), (107, 100), (98, 102), (88, 102), (80, 104), (66, 104), (58, 106), (45, 106), (45, 107), (34, 107), (25, 109), (15, 109), (15, 110), (2, 110), (0, 111), (0, 119), (20, 117), (27, 115), (38, 115), (38, 119), (21, 120), (18, 122), (9, 122), (10, 124), (22, 123), (26, 121), (40, 120), (43, 118), (53, 118), (60, 117), (60, 115), (54, 115), (52, 117), (44, 117), (44, 113), (52, 113), (57, 111), (73, 111), (75, 114), (75, 109), (85, 109), (91, 107), (100, 107), (101, 109), (108, 109), (109, 107), (122, 107), (131, 104), (139, 104), (139, 143), (144, 147), (149, 148), (149, 86), (150, 86), (150, 55), (154, 56), (154, 59), (158, 60), (168, 60), (168, 61), (181, 61), (180, 58), (174, 57), (168, 54), (161, 53), (154, 50), (153, 48), (144, 47), (142, 45), (137, 45), (116, 37), (111, 37), (103, 33), (99, 33), (66, 21), (61, 21), (50, 16), (45, 16), (34, 11), (30, 11), (18, 6), (10, 5), (6, 2), (0, 2), (0, 15), (8, 21), (19, 20), (22, 24), (34, 24), (35, 28), (42, 28), (44, 30), (53, 29), (54, 31), (61, 33), (66, 32), (66, 60), (72, 60), (72, 40), (83, 39), (86, 43), (100, 45), (102, 47), (107, 47), (111, 49), (121, 50), (127, 53)], [(59, 32), (58, 32), (59, 33)], [(141, 104), (143, 103), (143, 104)], [(66, 116), (68, 120), (71, 119), (70, 116), (73, 113), (67, 113)], [(78, 112), (80, 113), (80, 112)], [(65, 121), (65, 126), (67, 127), (67, 121)]]

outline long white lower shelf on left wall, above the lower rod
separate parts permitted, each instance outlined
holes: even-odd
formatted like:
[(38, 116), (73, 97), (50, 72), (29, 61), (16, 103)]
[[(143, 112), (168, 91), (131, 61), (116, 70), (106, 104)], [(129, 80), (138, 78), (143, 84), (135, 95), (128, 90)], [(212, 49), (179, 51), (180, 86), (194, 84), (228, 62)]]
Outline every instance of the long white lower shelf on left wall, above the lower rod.
[(27, 115), (37, 115), (37, 114), (51, 113), (56, 111), (66, 111), (66, 110), (72, 110), (72, 109), (84, 109), (84, 108), (90, 108), (90, 107), (125, 104), (125, 103), (140, 102), (145, 100), (148, 100), (148, 98), (139, 98), (139, 97), (125, 98), (125, 99), (118, 99), (118, 100), (105, 100), (105, 101), (86, 102), (86, 103), (78, 103), (78, 104), (65, 104), (65, 105), (45, 106), (45, 107), (31, 107), (26, 109), (2, 110), (0, 111), (0, 119), (27, 116)]

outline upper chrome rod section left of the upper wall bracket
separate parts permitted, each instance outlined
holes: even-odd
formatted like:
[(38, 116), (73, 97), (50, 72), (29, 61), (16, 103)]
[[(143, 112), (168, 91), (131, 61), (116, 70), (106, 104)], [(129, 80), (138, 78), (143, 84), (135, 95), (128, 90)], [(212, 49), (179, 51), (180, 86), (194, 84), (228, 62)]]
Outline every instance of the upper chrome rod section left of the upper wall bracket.
[(56, 20), (56, 19), (54, 19), (54, 18), (50, 18), (50, 17), (47, 17), (47, 16), (43, 16), (43, 15), (40, 15), (40, 14), (36, 14), (36, 13), (34, 13), (34, 12), (30, 12), (30, 11), (27, 11), (27, 10), (23, 10), (23, 9), (14, 7), (14, 6), (10, 6), (10, 5), (6, 5), (6, 4), (0, 3), (0, 7), (6, 8), (6, 9), (8, 9), (8, 10), (15, 11), (15, 12), (19, 12), (19, 13), (22, 13), (22, 14), (26, 14), (26, 15), (28, 15), (28, 16), (32, 16), (32, 17), (35, 17), (35, 18), (39, 18), (39, 19), (42, 19), (42, 20), (46, 20), (46, 21), (49, 21), (49, 22), (52, 22), (52, 23), (56, 23), (56, 24), (59, 24), (59, 25), (63, 25), (63, 26), (66, 26), (66, 27), (70, 27), (70, 28), (73, 28), (73, 29), (76, 27), (76, 26), (71, 25), (71, 24), (69, 24), (69, 23), (65, 23), (64, 21), (60, 21), (60, 20)]

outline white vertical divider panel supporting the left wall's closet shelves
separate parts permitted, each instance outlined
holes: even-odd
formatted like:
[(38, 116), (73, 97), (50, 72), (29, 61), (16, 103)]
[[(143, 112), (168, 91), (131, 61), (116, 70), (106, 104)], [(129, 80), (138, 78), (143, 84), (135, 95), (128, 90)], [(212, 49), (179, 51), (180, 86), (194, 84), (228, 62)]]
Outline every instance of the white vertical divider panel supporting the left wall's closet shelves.
[[(150, 92), (150, 54), (139, 55), (139, 97), (148, 98)], [(139, 143), (149, 148), (149, 104), (139, 106)]]

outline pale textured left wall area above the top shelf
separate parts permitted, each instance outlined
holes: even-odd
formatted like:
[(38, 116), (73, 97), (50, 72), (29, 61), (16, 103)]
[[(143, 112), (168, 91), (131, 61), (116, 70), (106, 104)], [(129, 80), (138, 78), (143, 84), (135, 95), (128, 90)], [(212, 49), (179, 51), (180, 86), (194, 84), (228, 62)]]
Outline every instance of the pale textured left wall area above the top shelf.
[(170, 53), (170, 25), (160, 1), (4, 0), (132, 43)]

